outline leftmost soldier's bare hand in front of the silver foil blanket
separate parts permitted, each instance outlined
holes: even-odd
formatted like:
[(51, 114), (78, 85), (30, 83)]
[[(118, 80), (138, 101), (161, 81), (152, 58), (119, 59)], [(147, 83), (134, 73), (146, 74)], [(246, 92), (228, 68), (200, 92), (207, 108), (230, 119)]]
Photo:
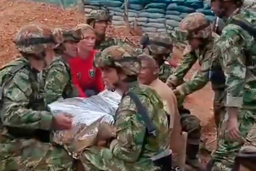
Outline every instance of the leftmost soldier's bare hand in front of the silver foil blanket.
[(57, 130), (71, 129), (73, 116), (66, 113), (58, 113), (52, 121), (52, 126)]

